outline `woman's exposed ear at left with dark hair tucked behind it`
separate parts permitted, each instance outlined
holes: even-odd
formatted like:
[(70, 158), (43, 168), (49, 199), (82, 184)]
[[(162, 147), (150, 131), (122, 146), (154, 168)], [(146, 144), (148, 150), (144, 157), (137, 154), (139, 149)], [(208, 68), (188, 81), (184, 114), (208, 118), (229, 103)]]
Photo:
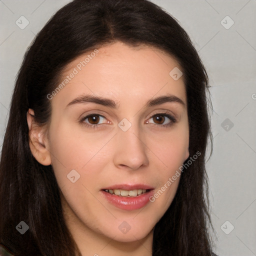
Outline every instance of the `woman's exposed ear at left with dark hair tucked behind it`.
[(26, 120), (29, 129), (29, 147), (34, 158), (42, 165), (50, 165), (50, 152), (47, 150), (48, 141), (45, 127), (39, 127), (34, 121), (34, 111), (28, 109)]

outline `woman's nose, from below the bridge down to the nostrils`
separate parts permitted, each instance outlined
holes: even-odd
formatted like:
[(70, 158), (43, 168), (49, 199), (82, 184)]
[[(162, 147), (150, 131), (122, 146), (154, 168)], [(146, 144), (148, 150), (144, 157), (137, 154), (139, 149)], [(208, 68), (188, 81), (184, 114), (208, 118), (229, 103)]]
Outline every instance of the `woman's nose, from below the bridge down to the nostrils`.
[(114, 164), (118, 168), (136, 170), (148, 165), (148, 148), (144, 136), (135, 125), (123, 131), (118, 128), (115, 136)]

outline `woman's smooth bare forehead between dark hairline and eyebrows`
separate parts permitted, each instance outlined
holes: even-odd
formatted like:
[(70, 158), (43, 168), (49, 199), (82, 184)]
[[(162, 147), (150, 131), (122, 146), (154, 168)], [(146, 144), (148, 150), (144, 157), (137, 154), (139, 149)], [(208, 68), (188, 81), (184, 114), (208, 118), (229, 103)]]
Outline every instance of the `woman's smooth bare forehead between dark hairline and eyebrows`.
[[(174, 94), (186, 102), (182, 76), (174, 80), (173, 68), (181, 69), (169, 54), (151, 46), (128, 46), (122, 42), (88, 51), (63, 70), (63, 89), (53, 98), (70, 100), (78, 94), (96, 94), (116, 102)], [(72, 77), (71, 77), (72, 76)], [(67, 78), (68, 77), (68, 78)], [(67, 81), (66, 83), (63, 81)]]

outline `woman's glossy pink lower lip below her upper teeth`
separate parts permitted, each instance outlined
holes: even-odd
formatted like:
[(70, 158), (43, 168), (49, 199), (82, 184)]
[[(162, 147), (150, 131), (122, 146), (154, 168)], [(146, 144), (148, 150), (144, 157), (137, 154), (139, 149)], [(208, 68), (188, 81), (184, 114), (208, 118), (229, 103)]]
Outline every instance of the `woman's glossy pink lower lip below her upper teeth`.
[(101, 190), (101, 192), (108, 202), (124, 210), (136, 210), (144, 207), (149, 202), (149, 197), (153, 195), (153, 190), (132, 197), (110, 194), (104, 190)]

